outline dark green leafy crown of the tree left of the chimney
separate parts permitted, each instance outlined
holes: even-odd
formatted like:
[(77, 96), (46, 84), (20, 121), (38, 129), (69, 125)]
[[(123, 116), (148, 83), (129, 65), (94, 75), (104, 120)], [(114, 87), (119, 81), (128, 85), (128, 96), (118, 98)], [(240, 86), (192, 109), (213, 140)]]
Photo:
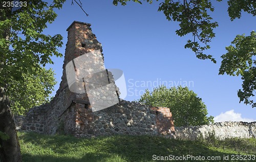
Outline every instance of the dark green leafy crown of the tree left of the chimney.
[(57, 14), (54, 8), (61, 8), (64, 0), (53, 4), (35, 0), (10, 13), (1, 8), (0, 21), (0, 83), (13, 80), (25, 81), (24, 74), (36, 74), (40, 64), (53, 63), (51, 56), (62, 56), (57, 47), (62, 46), (62, 36), (42, 33), (47, 23), (52, 23)]

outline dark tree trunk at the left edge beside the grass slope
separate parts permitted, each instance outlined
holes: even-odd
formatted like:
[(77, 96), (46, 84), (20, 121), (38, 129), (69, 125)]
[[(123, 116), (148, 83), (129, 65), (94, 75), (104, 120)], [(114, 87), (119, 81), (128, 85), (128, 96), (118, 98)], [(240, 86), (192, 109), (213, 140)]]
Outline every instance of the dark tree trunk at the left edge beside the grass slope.
[(7, 140), (3, 140), (0, 137), (0, 162), (22, 161), (14, 118), (4, 86), (0, 86), (0, 131), (9, 136)]

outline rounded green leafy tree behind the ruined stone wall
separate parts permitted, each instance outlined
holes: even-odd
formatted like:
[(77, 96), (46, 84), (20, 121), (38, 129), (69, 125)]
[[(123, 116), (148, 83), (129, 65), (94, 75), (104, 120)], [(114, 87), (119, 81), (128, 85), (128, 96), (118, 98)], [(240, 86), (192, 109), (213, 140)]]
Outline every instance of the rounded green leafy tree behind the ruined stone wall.
[(202, 99), (197, 97), (195, 92), (189, 91), (187, 87), (167, 89), (165, 86), (159, 86), (153, 92), (146, 90), (139, 102), (169, 107), (175, 126), (203, 125), (214, 122), (214, 117), (206, 116), (208, 113)]

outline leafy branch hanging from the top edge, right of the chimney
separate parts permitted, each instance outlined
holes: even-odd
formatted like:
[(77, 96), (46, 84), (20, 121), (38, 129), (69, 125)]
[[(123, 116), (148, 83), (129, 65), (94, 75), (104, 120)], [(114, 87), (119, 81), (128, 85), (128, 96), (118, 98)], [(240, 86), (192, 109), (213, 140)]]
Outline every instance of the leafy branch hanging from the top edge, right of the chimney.
[[(117, 5), (119, 2), (121, 5), (126, 5), (127, 1), (129, 0), (115, 0), (113, 4)], [(142, 4), (140, 1), (133, 1)], [(148, 0), (146, 2), (153, 3), (153, 1)], [(162, 11), (168, 21), (179, 22), (180, 29), (176, 30), (178, 36), (182, 37), (187, 34), (193, 36), (193, 40), (188, 40), (185, 48), (190, 48), (199, 59), (210, 59), (216, 63), (212, 55), (204, 53), (210, 48), (208, 43), (215, 37), (213, 30), (218, 26), (217, 22), (212, 22), (212, 18), (208, 14), (209, 11), (214, 11), (209, 0), (165, 0), (160, 3), (158, 11)]]

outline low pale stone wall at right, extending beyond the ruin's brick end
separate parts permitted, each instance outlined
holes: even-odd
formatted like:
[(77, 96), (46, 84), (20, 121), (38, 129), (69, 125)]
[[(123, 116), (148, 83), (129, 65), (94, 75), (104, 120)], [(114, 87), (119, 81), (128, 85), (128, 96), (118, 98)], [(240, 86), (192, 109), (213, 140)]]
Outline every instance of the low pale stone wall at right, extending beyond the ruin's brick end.
[(221, 140), (226, 138), (256, 138), (256, 122), (218, 122), (210, 125), (175, 127), (175, 137), (178, 139), (195, 140), (202, 134), (203, 138), (209, 133)]

